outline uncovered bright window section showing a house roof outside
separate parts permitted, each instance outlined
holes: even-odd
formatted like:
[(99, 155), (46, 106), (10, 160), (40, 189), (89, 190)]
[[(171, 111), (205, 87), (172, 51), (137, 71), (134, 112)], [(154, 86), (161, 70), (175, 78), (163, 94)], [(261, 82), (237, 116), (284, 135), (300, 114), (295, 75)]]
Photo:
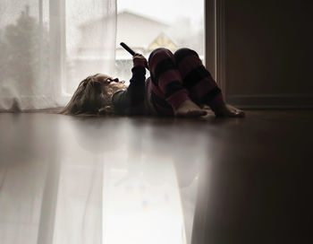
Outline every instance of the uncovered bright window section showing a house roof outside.
[(115, 75), (126, 82), (131, 77), (131, 55), (125, 42), (148, 58), (155, 48), (192, 48), (204, 57), (203, 0), (117, 0)]

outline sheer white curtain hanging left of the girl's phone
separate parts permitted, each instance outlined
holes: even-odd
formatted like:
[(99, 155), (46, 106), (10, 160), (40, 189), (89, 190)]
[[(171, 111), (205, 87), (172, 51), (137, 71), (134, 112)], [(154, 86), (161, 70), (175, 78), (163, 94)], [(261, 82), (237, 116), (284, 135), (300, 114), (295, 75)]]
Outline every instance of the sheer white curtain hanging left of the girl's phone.
[(63, 106), (114, 72), (116, 0), (1, 0), (0, 110)]

